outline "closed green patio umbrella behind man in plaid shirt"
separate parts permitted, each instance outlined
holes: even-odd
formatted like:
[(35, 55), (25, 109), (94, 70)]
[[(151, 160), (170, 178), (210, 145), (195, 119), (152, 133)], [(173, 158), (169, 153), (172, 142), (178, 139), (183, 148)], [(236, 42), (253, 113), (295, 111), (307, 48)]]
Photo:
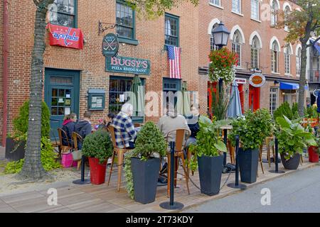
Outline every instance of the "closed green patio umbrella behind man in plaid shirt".
[(128, 101), (134, 107), (133, 116), (144, 116), (144, 86), (138, 75), (134, 76), (130, 92), (134, 94)]

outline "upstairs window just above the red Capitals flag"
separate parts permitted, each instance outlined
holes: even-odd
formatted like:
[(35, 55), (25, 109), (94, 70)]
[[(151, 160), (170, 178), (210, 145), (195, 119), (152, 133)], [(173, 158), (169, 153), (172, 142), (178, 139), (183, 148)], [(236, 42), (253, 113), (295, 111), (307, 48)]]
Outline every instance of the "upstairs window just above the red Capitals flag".
[(75, 28), (75, 1), (55, 0), (48, 7), (50, 23)]

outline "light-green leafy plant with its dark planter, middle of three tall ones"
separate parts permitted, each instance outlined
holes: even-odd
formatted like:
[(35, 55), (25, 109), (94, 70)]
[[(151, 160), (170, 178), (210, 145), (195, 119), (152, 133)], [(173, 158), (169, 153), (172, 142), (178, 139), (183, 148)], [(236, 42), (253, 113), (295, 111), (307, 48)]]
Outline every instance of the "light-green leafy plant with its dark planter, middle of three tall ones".
[(210, 124), (199, 121), (199, 125), (196, 145), (191, 145), (189, 149), (198, 157), (201, 193), (213, 196), (220, 192), (223, 153), (227, 152), (227, 148), (218, 136), (215, 122)]

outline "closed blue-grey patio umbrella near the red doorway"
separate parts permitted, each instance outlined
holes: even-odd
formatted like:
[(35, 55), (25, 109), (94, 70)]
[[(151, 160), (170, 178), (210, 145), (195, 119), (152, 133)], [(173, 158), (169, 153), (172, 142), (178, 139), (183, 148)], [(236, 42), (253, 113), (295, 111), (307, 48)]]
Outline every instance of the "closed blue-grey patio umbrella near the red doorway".
[(231, 87), (231, 96), (227, 112), (228, 118), (236, 118), (242, 116), (240, 93), (237, 82), (233, 82)]

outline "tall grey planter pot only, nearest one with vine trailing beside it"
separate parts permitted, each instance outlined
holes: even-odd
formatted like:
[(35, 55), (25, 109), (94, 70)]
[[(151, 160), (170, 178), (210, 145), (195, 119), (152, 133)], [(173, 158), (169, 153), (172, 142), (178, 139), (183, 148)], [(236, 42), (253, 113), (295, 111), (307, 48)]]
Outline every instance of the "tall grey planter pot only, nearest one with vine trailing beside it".
[(132, 157), (132, 177), (134, 183), (134, 200), (149, 204), (156, 200), (156, 184), (159, 178), (160, 159), (146, 161)]

